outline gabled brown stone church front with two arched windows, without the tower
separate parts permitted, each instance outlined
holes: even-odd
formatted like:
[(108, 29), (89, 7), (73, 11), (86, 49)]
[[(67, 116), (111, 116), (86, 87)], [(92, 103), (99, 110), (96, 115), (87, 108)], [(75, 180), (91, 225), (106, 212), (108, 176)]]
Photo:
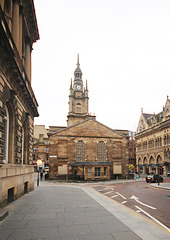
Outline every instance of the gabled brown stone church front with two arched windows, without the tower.
[(93, 118), (49, 134), (50, 178), (111, 179), (128, 174), (128, 138)]

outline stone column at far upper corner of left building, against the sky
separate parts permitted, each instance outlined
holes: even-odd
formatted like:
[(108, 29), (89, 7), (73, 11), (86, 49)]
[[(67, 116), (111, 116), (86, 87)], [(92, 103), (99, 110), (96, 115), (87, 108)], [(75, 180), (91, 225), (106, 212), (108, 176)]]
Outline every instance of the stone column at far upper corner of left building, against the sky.
[(30, 38), (25, 40), (25, 70), (29, 81), (31, 81), (31, 43)]

